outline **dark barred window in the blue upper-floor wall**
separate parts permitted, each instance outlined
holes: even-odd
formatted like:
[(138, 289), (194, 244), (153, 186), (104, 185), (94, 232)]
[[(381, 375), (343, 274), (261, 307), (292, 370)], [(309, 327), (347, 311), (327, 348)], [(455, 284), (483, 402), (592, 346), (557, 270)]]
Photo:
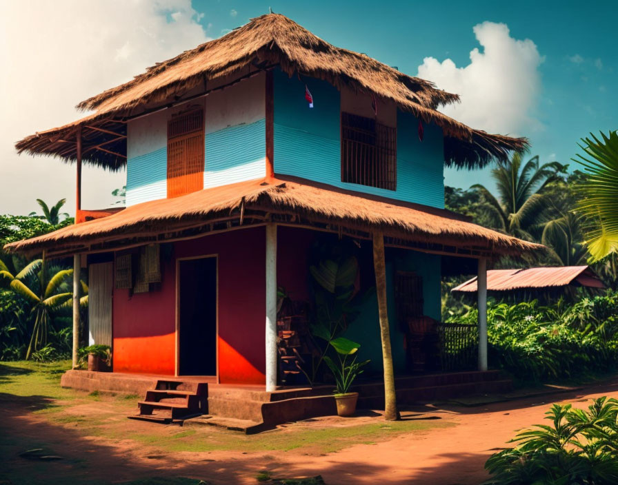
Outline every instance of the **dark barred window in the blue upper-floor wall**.
[(397, 129), (341, 113), (341, 181), (397, 189)]

